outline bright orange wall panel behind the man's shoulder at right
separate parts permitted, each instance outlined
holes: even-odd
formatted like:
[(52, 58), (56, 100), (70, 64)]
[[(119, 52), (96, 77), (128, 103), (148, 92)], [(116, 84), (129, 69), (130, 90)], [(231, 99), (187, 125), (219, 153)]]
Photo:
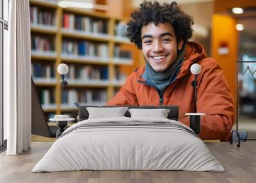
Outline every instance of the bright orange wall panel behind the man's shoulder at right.
[[(229, 53), (218, 54), (220, 42), (227, 42)], [(236, 101), (236, 61), (238, 58), (238, 34), (236, 30), (236, 19), (228, 15), (212, 16), (212, 57), (220, 63), (227, 83)]]

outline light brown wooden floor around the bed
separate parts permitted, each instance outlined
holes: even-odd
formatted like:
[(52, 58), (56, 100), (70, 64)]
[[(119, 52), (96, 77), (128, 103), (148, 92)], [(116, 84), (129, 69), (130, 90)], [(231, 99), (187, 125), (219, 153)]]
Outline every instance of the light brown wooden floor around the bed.
[(0, 154), (0, 182), (256, 182), (256, 143), (206, 143), (225, 172), (195, 171), (64, 171), (31, 173), (33, 166), (51, 147), (52, 142), (34, 142), (22, 155)]

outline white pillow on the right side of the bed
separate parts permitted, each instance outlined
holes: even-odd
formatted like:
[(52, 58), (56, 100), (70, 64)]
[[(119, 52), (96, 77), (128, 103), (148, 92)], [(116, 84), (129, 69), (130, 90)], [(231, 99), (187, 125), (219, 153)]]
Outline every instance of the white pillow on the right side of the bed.
[(150, 118), (167, 118), (170, 109), (128, 109), (131, 118), (134, 117), (150, 117)]

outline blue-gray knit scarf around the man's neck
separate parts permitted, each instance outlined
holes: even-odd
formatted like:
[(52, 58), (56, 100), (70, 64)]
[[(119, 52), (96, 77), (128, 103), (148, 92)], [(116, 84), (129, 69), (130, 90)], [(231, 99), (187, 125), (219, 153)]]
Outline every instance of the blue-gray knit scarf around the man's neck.
[(180, 67), (184, 61), (185, 48), (186, 46), (184, 44), (182, 50), (178, 52), (176, 61), (164, 72), (154, 71), (154, 69), (146, 61), (145, 72), (142, 75), (143, 79), (145, 79), (151, 86), (157, 88), (160, 93), (163, 93), (165, 88), (176, 80), (176, 76), (179, 73)]

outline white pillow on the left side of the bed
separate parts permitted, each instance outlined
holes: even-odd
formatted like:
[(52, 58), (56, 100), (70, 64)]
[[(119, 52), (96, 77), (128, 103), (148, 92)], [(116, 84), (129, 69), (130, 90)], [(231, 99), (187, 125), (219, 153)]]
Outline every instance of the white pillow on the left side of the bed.
[(95, 118), (120, 118), (125, 117), (124, 114), (128, 107), (86, 107), (89, 117)]

